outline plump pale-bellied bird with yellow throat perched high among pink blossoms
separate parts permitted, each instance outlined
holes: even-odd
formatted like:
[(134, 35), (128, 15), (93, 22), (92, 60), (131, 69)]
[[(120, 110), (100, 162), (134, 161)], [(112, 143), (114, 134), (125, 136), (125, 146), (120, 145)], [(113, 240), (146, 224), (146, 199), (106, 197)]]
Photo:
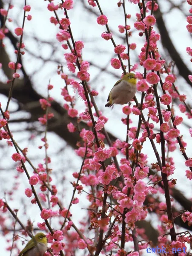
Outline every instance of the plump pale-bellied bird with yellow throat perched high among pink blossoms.
[(111, 107), (113, 104), (126, 104), (130, 102), (136, 93), (137, 79), (135, 78), (134, 73), (127, 73), (122, 76), (113, 86), (112, 90), (109, 93), (106, 107)]

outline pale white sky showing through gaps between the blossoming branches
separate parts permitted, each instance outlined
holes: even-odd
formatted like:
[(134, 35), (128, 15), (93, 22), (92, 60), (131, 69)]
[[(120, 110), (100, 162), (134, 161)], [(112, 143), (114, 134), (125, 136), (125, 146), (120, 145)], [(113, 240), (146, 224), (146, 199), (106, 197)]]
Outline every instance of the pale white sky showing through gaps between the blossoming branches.
[[(8, 1), (7, 1), (8, 2)], [(54, 1), (57, 3), (58, 1)], [(166, 12), (169, 10), (168, 1), (160, 0), (161, 11)], [(175, 4), (179, 4), (181, 0), (174, 0)], [(12, 3), (14, 4), (14, 9), (10, 10), (9, 17), (12, 18), (13, 23), (7, 23), (8, 28), (11, 32), (14, 32), (14, 28), (17, 26), (22, 26), (23, 20), (23, 6), (24, 0), (13, 0)], [(64, 86), (64, 82), (60, 79), (60, 76), (57, 75), (57, 64), (64, 65), (64, 72), (72, 75), (69, 73), (66, 68), (66, 62), (64, 59), (64, 53), (69, 52), (68, 50), (64, 50), (61, 47), (62, 43), (59, 43), (56, 40), (56, 33), (59, 32), (58, 26), (54, 26), (54, 24), (49, 22), (49, 18), (54, 16), (53, 12), (49, 12), (47, 9), (48, 1), (38, 0), (32, 1), (27, 0), (27, 4), (32, 7), (31, 11), (29, 12), (32, 15), (32, 20), (26, 20), (25, 27), (24, 27), (24, 36), (23, 41), (26, 45), (26, 54), (22, 56), (23, 66), (28, 73), (28, 75), (32, 76), (31, 80), (33, 82), (35, 90), (40, 93), (42, 96), (46, 97), (47, 92), (47, 84), (49, 83), (49, 79), (51, 79), (51, 84), (54, 85), (54, 89), (51, 91), (51, 96), (54, 97), (57, 102), (60, 102), (63, 105), (64, 100), (63, 97), (60, 95), (60, 88)], [(89, 5), (86, 3), (89, 7)], [(122, 124), (121, 118), (125, 117), (122, 113), (121, 109), (122, 106), (116, 105), (113, 110), (109, 108), (105, 108), (104, 105), (106, 103), (107, 96), (109, 91), (111, 90), (115, 81), (117, 81), (117, 77), (121, 76), (121, 70), (114, 70), (110, 65), (110, 59), (114, 58), (114, 47), (111, 41), (104, 41), (101, 38), (101, 33), (106, 31), (105, 26), (100, 26), (97, 24), (97, 16), (91, 15), (87, 10), (83, 9), (82, 2), (80, 0), (74, 0), (74, 9), (68, 12), (69, 19), (71, 21), (71, 28), (73, 32), (73, 36), (75, 41), (82, 40), (84, 41), (84, 49), (83, 49), (83, 60), (90, 61), (97, 66), (107, 67), (106, 70), (112, 72), (114, 74), (111, 75), (110, 73), (100, 72), (99, 69), (96, 67), (91, 66), (89, 73), (90, 73), (90, 85), (92, 89), (95, 89), (99, 92), (99, 96), (95, 97), (97, 102), (98, 108), (103, 111), (103, 114), (109, 118), (109, 121), (106, 123), (107, 131), (110, 131), (116, 137), (124, 140), (126, 138), (126, 126)], [(114, 31), (114, 40), (116, 44), (125, 44), (125, 42), (118, 38), (116, 35), (120, 35), (121, 37), (123, 34), (118, 32), (118, 25), (124, 25), (124, 16), (123, 16), (123, 9), (117, 7), (117, 0), (100, 0), (100, 6), (103, 10), (103, 13), (108, 17), (109, 20), (109, 28)], [(5, 6), (6, 7), (6, 6)], [(92, 8), (90, 6), (90, 8)], [(189, 10), (189, 5), (186, 3), (184, 5), (185, 13)], [(92, 8), (94, 12), (98, 15), (97, 7)], [(131, 20), (128, 20), (128, 24), (132, 27), (132, 37), (129, 38), (129, 43), (137, 43), (137, 48), (135, 51), (131, 50), (131, 64), (138, 63), (138, 54), (140, 53), (140, 48), (143, 46), (144, 37), (140, 38), (138, 36), (138, 32), (135, 31), (133, 27), (133, 23), (136, 21), (135, 13), (139, 12), (138, 6), (131, 4), (126, 1), (126, 12), (127, 14), (131, 14)], [(60, 18), (64, 17), (63, 11), (59, 10), (57, 12)], [(164, 20), (166, 21), (166, 25), (169, 30), (169, 35), (171, 36), (175, 47), (177, 48), (178, 52), (183, 56), (183, 60), (187, 64), (187, 66), (191, 67), (190, 57), (186, 54), (186, 47), (191, 46), (191, 38), (189, 32), (186, 30), (186, 19), (185, 15), (179, 9), (173, 9), (168, 12), (168, 14), (164, 15)], [(16, 23), (17, 22), (17, 23)], [(154, 28), (157, 31), (157, 28)], [(34, 38), (37, 38), (35, 40)], [(46, 42), (46, 43), (42, 43)], [(6, 43), (6, 50), (9, 52), (9, 56), (11, 61), (15, 61), (14, 49), (10, 47), (9, 41), (5, 40)], [(52, 46), (56, 49), (54, 54), (52, 54)], [(166, 52), (164, 52), (160, 42), (158, 42), (159, 51), (163, 56), (167, 57)], [(36, 56), (36, 57), (35, 57)], [(40, 59), (49, 59), (46, 64)], [(169, 56), (166, 59), (170, 61)], [(141, 72), (143, 69), (141, 67)], [(34, 74), (35, 73), (35, 74)], [(177, 70), (175, 70), (177, 73)], [(0, 76), (2, 73), (0, 73)], [(116, 76), (115, 76), (116, 75)], [(2, 76), (1, 76), (2, 77)], [(3, 81), (6, 81), (4, 77), (2, 77)], [(178, 86), (178, 90), (180, 93), (184, 93), (188, 95), (188, 102), (191, 102), (191, 90), (189, 90), (189, 85), (186, 84), (182, 78), (178, 78), (176, 81), (176, 85)], [(72, 90), (70, 91), (72, 93)], [(138, 99), (140, 99), (140, 94), (137, 93)], [(6, 107), (6, 97), (0, 96), (0, 102), (2, 103), (3, 109)], [(14, 110), (16, 105), (14, 103), (10, 104), (10, 110)], [(84, 110), (84, 103), (77, 98), (76, 108), (78, 109), (79, 113)], [(178, 114), (182, 116), (185, 122), (191, 125), (191, 121), (186, 119), (185, 116), (178, 111), (175, 107), (175, 115)], [(19, 113), (17, 117), (25, 117), (26, 113)], [(16, 115), (14, 114), (14, 118)], [(138, 125), (138, 117), (132, 116), (133, 124), (132, 126)], [(37, 166), (38, 163), (43, 163), (43, 159), (45, 157), (44, 150), (39, 150), (37, 147), (38, 145), (43, 145), (41, 142), (42, 136), (37, 136), (34, 140), (29, 141), (29, 132), (26, 132), (26, 125), (10, 125), (11, 131), (17, 131), (20, 129), (20, 132), (13, 132), (15, 140), (19, 143), (21, 148), (28, 147), (29, 154), (28, 157), (32, 160), (34, 166)], [(157, 125), (159, 127), (159, 124)], [(191, 137), (189, 136), (188, 128), (182, 125), (182, 128), (179, 127), (181, 130), (181, 134), (183, 134), (183, 140), (188, 142), (186, 153), (189, 157), (192, 157), (192, 145), (189, 143)], [(42, 128), (43, 129), (43, 128)], [(24, 132), (25, 131), (25, 132)], [(64, 141), (61, 141), (57, 135), (53, 133), (48, 134), (48, 141), (49, 141), (49, 150), (48, 154), (52, 158), (51, 168), (53, 169), (53, 184), (60, 182), (58, 187), (59, 194), (58, 197), (61, 199), (63, 198), (63, 205), (64, 207), (68, 207), (69, 201), (71, 200), (72, 196), (72, 186), (69, 181), (73, 181), (74, 178), (72, 177), (73, 172), (78, 172), (81, 165), (81, 159), (76, 157), (75, 152), (69, 147), (66, 146)], [(2, 145), (6, 143), (1, 141)], [(64, 151), (61, 151), (61, 148), (65, 147)], [(159, 146), (157, 146), (159, 148)], [(151, 145), (147, 140), (143, 147), (143, 153), (147, 153), (149, 158), (149, 164), (152, 162), (156, 162), (155, 154), (152, 151)], [(14, 182), (14, 175), (16, 174), (16, 170), (14, 163), (11, 159), (11, 154), (14, 153), (14, 148), (7, 148), (4, 147), (0, 150), (0, 198), (4, 196), (5, 191), (10, 191), (12, 189), (12, 182)], [(181, 155), (180, 151), (177, 150), (174, 153), (170, 153), (174, 157), (176, 170), (173, 175), (175, 179), (177, 179), (176, 188), (180, 189), (181, 192), (185, 194), (186, 197), (191, 198), (191, 189), (192, 183), (186, 179), (185, 177), (185, 170), (186, 167), (184, 166), (184, 158)], [(75, 159), (75, 161), (74, 161)], [(32, 169), (29, 167), (29, 173), (32, 175)], [(66, 180), (61, 182), (61, 179), (65, 177)], [(10, 180), (12, 181), (10, 183)], [(30, 217), (31, 220), (35, 221), (34, 226), (37, 222), (43, 222), (40, 218), (40, 211), (38, 210), (37, 206), (33, 206), (30, 201), (32, 198), (26, 198), (24, 195), (24, 189), (29, 187), (28, 180), (25, 174), (21, 174), (20, 178), (18, 179), (20, 182), (19, 189), (14, 192), (12, 196), (13, 201), (10, 201), (10, 197), (7, 195), (6, 198), (12, 208), (18, 208), (18, 204), (20, 205), (20, 212), (18, 213), (18, 217), (23, 220), (23, 223), (26, 223), (26, 216), (23, 215), (23, 206), (20, 204), (22, 200), (22, 204), (25, 204), (27, 209), (27, 216)], [(183, 186), (185, 184), (185, 186)], [(86, 208), (87, 201), (86, 195), (78, 196), (80, 198), (80, 204), (76, 204), (72, 206), (72, 213), (73, 213), (73, 221), (75, 224), (78, 225), (78, 221), (83, 218), (84, 211), (81, 208)], [(46, 205), (45, 205), (46, 208)], [(56, 209), (56, 208), (55, 208)], [(56, 228), (56, 227), (55, 227)], [(11, 236), (10, 236), (11, 237)], [(0, 256), (8, 256), (10, 252), (6, 251), (6, 243), (5, 240), (2, 238), (2, 234), (0, 234), (0, 246), (1, 252)], [(21, 245), (21, 243), (20, 243)], [(143, 254), (145, 255), (145, 253)], [(146, 254), (148, 255), (148, 254)], [(14, 256), (14, 253), (13, 253)], [(16, 255), (15, 255), (16, 256)]]

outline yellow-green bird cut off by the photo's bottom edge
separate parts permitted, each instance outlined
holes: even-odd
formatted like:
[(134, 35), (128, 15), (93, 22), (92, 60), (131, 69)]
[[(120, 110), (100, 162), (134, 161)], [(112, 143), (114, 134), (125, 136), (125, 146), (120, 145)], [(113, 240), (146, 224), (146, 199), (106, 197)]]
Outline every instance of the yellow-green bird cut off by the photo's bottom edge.
[(47, 238), (43, 233), (37, 233), (26, 244), (18, 256), (43, 256), (47, 250)]

